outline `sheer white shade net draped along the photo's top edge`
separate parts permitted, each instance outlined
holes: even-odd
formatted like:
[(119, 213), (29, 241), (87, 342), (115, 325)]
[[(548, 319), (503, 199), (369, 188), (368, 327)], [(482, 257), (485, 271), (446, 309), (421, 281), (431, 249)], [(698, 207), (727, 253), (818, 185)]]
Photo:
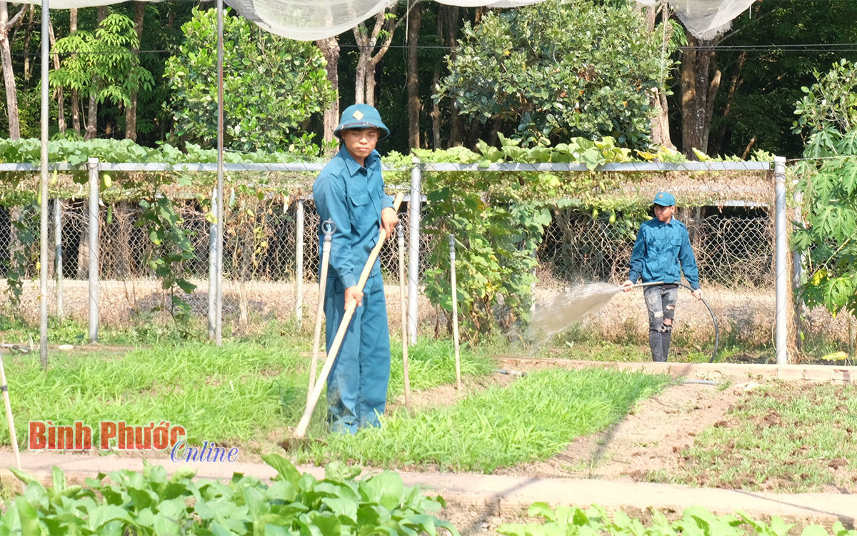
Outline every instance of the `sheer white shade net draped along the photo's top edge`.
[[(271, 33), (290, 39), (313, 41), (346, 32), (395, 2), (414, 0), (225, 0), (238, 13)], [(461, 7), (514, 8), (544, 0), (436, 0)], [(561, 0), (548, 0), (557, 2)], [(655, 5), (661, 0), (636, 0)], [(669, 0), (687, 30), (698, 39), (713, 39), (725, 32), (732, 20), (754, 0)], [(40, 4), (39, 0), (23, 3)], [(117, 0), (52, 0), (51, 9), (87, 8), (118, 3)]]

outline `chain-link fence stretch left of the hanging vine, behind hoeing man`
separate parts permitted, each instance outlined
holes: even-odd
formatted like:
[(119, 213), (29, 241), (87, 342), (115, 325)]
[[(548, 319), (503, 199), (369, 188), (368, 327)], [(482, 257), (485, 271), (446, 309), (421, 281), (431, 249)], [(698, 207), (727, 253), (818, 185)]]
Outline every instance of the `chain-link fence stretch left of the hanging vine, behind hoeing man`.
[[(175, 191), (172, 193), (176, 193)], [(210, 200), (201, 202), (192, 192), (177, 196), (173, 205), (193, 250), (182, 266), (196, 289), (181, 297), (189, 303), (194, 316), (207, 316), (209, 298), (210, 232), (214, 220)], [(299, 208), (299, 205), (303, 209)], [(399, 212), (409, 247), (410, 226), (407, 203)], [(62, 301), (63, 313), (86, 319), (89, 298), (87, 199), (51, 200), (49, 236), (49, 312), (57, 312), (56, 211), (62, 227)], [(171, 294), (162, 288), (152, 262), (161, 252), (150, 238), (150, 228), (141, 226), (143, 208), (139, 202), (118, 201), (99, 207), (99, 324), (127, 327), (165, 316), (171, 306)], [(303, 217), (303, 234), (298, 236), (298, 214)], [(320, 219), (311, 199), (285, 195), (231, 196), (225, 207), (224, 235), (224, 318), (225, 324), (242, 332), (260, 328), (268, 319), (290, 320), (297, 312), (297, 292), (303, 310), (315, 310), (321, 251)], [(5, 220), (5, 221), (4, 221)], [(17, 221), (17, 226), (13, 225)], [(19, 237), (29, 237), (21, 240)], [(423, 250), (427, 237), (421, 236)], [(303, 256), (297, 259), (297, 244)], [(15, 250), (21, 251), (13, 261)], [(25, 304), (21, 313), (30, 320), (38, 307), (38, 213), (21, 218), (21, 208), (0, 208), (0, 255), (7, 266), (15, 264), (24, 279)], [(424, 257), (424, 256), (423, 256)], [(20, 262), (23, 259), (24, 262)], [(381, 273), (388, 289), (392, 323), (399, 323), (399, 247), (398, 237), (387, 240), (381, 250)], [(407, 257), (405, 257), (405, 265)], [(298, 285), (298, 271), (303, 280)], [(2, 285), (2, 283), (0, 283)], [(393, 295), (395, 294), (395, 295)], [(27, 307), (27, 304), (32, 304)], [(395, 305), (395, 307), (394, 307)], [(428, 309), (428, 304), (423, 304)], [(393, 316), (393, 311), (397, 314)], [(304, 317), (307, 315), (304, 314)], [(310, 316), (312, 317), (312, 316)]]

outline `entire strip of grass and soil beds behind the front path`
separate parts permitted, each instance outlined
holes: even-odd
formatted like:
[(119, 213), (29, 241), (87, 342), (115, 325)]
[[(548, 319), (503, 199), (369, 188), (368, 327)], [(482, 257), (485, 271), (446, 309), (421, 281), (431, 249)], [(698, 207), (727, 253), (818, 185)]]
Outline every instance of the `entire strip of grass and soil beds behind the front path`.
[[(191, 441), (237, 447), (241, 461), (258, 462), (281, 452), (279, 442), (303, 412), (305, 346), (296, 342), (284, 351), (278, 339), (221, 349), (187, 344), (125, 355), (54, 354), (47, 375), (32, 356), (9, 356), (19, 440), (26, 447), (31, 419), (137, 425), (168, 419), (184, 425)], [(459, 394), (448, 341), (423, 341), (411, 350), (408, 413), (399, 359), (393, 356), (381, 430), (330, 437), (317, 411), (310, 434), (327, 443), (285, 455), (423, 472), (857, 491), (854, 385), (667, 385), (665, 376), (559, 370), (550, 360), (524, 359), (515, 365), (527, 372), (520, 378), (494, 373), (494, 361), (465, 349)], [(0, 449), (9, 450), (3, 432)]]

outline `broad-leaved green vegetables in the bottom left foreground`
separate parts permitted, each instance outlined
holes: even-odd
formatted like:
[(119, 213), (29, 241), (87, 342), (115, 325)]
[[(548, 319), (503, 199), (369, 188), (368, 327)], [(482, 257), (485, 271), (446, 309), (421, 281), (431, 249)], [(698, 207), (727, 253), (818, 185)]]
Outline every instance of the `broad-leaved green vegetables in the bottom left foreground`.
[[(452, 536), (458, 530), (432, 515), (440, 497), (425, 497), (402, 484), (398, 473), (385, 472), (365, 479), (316, 480), (300, 475), (290, 461), (267, 455), (279, 479), (270, 485), (236, 473), (228, 483), (191, 479), (144, 461), (142, 473), (122, 470), (87, 486), (67, 486), (54, 468), (54, 485), (39, 484), (15, 473), (27, 483), (0, 518), (0, 535), (11, 534), (377, 534), (416, 533)], [(333, 467), (333, 473), (341, 469)]]

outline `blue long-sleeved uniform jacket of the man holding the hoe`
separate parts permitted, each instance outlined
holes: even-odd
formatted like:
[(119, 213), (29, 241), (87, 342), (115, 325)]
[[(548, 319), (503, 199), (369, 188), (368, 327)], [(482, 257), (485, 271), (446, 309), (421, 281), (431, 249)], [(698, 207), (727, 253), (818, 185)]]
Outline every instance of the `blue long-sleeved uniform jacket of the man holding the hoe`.
[[(330, 268), (343, 289), (357, 285), (369, 252), (378, 243), (381, 210), (393, 207), (393, 199), (384, 193), (381, 156), (372, 151), (361, 166), (345, 146), (321, 170), (313, 184), (313, 199), (321, 222), (328, 218), (336, 224), (330, 248)], [(319, 248), (324, 232), (319, 226)], [(381, 273), (377, 260), (372, 275)]]

